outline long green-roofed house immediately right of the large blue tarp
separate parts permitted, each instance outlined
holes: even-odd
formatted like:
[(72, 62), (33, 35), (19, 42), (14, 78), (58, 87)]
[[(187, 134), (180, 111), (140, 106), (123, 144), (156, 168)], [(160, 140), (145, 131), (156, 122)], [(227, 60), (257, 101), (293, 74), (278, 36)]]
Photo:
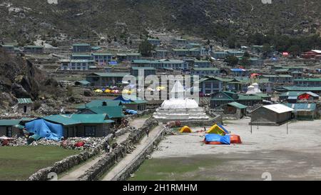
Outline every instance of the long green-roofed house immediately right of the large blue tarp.
[(59, 114), (43, 118), (63, 126), (63, 137), (103, 137), (110, 133), (115, 121), (107, 114)]

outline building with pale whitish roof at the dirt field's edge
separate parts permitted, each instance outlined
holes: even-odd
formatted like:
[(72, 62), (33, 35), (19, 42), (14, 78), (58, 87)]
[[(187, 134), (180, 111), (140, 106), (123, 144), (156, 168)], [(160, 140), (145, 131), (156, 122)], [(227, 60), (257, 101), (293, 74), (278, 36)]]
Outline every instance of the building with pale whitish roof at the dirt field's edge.
[(250, 124), (261, 126), (281, 125), (291, 119), (292, 111), (294, 109), (283, 104), (260, 106), (251, 112)]

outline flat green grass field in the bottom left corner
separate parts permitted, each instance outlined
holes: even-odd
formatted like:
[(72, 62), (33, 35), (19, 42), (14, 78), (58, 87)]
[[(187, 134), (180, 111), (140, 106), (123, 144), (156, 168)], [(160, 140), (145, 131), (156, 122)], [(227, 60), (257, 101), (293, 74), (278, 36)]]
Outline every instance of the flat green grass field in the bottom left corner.
[(0, 147), (0, 181), (28, 179), (39, 169), (79, 152), (58, 146)]

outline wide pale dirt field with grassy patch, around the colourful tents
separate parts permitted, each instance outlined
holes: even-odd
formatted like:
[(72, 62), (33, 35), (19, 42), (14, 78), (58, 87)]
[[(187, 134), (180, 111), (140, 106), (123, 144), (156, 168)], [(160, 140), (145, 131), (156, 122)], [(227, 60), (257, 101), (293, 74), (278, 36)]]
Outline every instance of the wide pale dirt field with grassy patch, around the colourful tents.
[(248, 123), (225, 125), (241, 136), (240, 145), (205, 145), (203, 133), (167, 136), (132, 179), (263, 180), (265, 172), (272, 180), (321, 179), (321, 121), (290, 123), (288, 134), (286, 124), (253, 126), (251, 134)]

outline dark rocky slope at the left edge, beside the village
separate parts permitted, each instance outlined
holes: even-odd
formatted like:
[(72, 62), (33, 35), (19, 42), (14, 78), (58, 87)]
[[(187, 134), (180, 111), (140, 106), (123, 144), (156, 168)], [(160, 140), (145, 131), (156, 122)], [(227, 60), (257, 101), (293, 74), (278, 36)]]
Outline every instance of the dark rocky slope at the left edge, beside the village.
[(63, 89), (30, 61), (9, 56), (0, 49), (0, 109), (9, 109), (17, 98), (36, 100), (63, 97)]

